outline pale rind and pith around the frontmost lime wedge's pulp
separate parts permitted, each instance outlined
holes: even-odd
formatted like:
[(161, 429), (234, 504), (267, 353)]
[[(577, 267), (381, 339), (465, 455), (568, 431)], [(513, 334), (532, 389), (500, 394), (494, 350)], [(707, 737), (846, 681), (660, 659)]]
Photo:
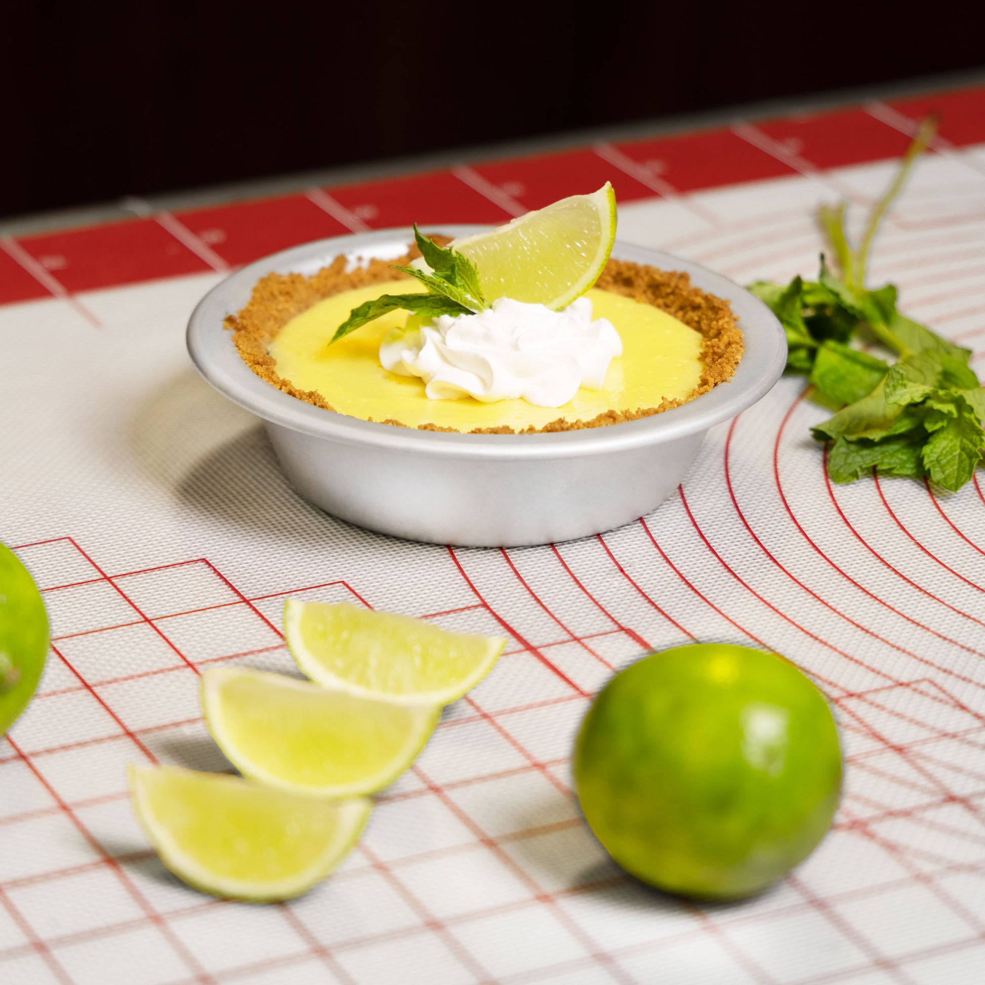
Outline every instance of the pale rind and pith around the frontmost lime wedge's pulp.
[[(137, 819), (151, 844), (157, 849), (164, 865), (178, 879), (195, 889), (215, 896), (248, 902), (292, 899), (321, 882), (355, 847), (372, 810), (372, 803), (361, 797), (321, 802), (255, 786), (250, 781), (236, 776), (197, 773), (178, 766), (131, 765), (128, 767), (128, 779)], [(263, 807), (269, 807), (270, 798), (280, 797), (288, 812), (292, 810), (301, 813), (321, 812), (324, 816), (323, 820), (331, 819), (332, 823), (327, 825), (330, 830), (325, 836), (321, 850), (296, 873), (280, 879), (264, 879), (259, 871), (253, 879), (229, 877), (211, 869), (200, 857), (200, 853), (197, 855), (190, 846), (182, 844), (175, 831), (158, 817), (154, 806), (154, 788), (161, 782), (166, 783), (175, 779), (191, 779), (192, 782), (198, 780), (200, 789), (206, 784), (213, 788), (211, 793), (215, 799), (211, 804), (206, 805), (206, 809), (221, 806), (223, 794), (227, 790), (238, 788), (237, 792), (241, 792), (245, 787), (255, 792), (258, 806), (262, 804)], [(188, 799), (182, 806), (189, 814), (193, 814), (196, 807), (199, 810), (202, 808), (202, 805), (195, 805)], [(237, 850), (233, 841), (234, 836), (230, 832), (230, 852)], [(265, 863), (267, 853), (277, 852), (278, 848), (279, 844), (271, 843), (263, 846), (261, 851), (252, 853), (257, 859), (258, 870)]]

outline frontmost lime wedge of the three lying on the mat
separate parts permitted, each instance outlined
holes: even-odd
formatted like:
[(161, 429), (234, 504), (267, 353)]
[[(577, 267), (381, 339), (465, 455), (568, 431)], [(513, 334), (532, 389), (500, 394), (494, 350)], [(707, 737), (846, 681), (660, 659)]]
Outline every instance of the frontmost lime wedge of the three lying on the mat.
[(324, 879), (356, 844), (371, 804), (320, 801), (238, 776), (130, 766), (134, 811), (164, 865), (189, 886), (262, 902)]

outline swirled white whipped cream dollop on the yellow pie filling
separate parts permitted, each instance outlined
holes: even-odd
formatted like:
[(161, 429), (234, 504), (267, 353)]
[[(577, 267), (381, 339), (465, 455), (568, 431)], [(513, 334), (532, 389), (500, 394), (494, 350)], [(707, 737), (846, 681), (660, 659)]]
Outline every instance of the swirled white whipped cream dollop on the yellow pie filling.
[(500, 297), (476, 314), (392, 329), (379, 347), (383, 367), (420, 376), (431, 400), (522, 397), (539, 407), (560, 407), (581, 386), (601, 390), (610, 361), (622, 355), (619, 332), (605, 318), (592, 320), (584, 296), (560, 311)]

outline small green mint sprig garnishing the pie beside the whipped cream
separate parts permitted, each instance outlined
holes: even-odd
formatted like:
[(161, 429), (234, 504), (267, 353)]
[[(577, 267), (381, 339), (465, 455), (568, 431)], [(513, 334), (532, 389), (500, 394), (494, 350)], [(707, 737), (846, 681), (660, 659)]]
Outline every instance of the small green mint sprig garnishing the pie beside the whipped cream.
[(476, 265), (450, 246), (438, 246), (414, 225), (414, 238), (431, 272), (415, 267), (400, 267), (427, 288), (426, 295), (381, 295), (353, 308), (349, 317), (336, 329), (329, 345), (344, 339), (351, 332), (388, 311), (403, 308), (414, 314), (436, 318), (442, 314), (473, 314), (489, 307), (483, 296)]

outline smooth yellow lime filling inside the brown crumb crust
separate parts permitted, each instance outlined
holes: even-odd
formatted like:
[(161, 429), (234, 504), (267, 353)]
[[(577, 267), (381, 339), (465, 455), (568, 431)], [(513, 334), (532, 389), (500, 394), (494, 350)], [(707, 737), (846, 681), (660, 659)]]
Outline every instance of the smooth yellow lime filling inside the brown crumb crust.
[(623, 356), (613, 360), (601, 390), (581, 388), (562, 407), (537, 407), (525, 400), (484, 404), (472, 397), (430, 400), (422, 379), (388, 372), (379, 362), (379, 344), (406, 311), (391, 311), (329, 346), (349, 312), (387, 293), (424, 291), (417, 282), (373, 284), (326, 297), (281, 329), (270, 346), (277, 372), (299, 390), (315, 390), (340, 414), (363, 421), (395, 420), (407, 427), (433, 424), (477, 427), (544, 427), (558, 418), (590, 421), (606, 411), (658, 407), (682, 400), (701, 374), (701, 336), (666, 311), (622, 295), (592, 289), (593, 317), (608, 318), (623, 339)]

